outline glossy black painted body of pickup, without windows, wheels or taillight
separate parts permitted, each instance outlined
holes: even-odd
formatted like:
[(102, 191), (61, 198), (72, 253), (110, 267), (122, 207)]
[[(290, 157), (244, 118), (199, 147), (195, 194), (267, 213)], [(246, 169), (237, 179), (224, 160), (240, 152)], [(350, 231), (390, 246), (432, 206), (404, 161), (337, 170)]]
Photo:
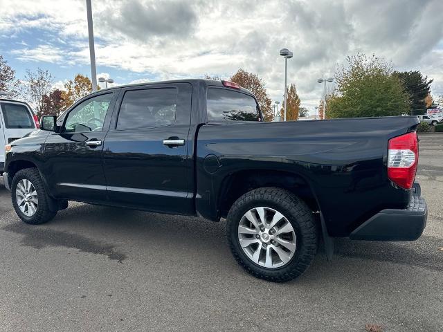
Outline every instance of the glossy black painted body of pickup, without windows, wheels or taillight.
[[(174, 124), (117, 129), (125, 91), (164, 86), (179, 90)], [(228, 89), (219, 81), (177, 80), (92, 93), (87, 98), (113, 93), (102, 131), (35, 131), (13, 142), (6, 156), (7, 185), (22, 162), (32, 163), (53, 199), (218, 221), (225, 216), (220, 207), (231, 176), (282, 172), (307, 184), (332, 237), (365, 237), (359, 227), (368, 219), (386, 210), (407, 210), (412, 190), (397, 187), (387, 176), (388, 140), (414, 131), (417, 117), (211, 123), (206, 120), (210, 86)], [(240, 91), (253, 96), (246, 89)], [(64, 125), (69, 111), (81, 101), (57, 119), (57, 126)], [(168, 147), (162, 144), (168, 138), (186, 143)], [(103, 145), (87, 147), (85, 142), (91, 139)], [(421, 220), (424, 228), (426, 215)]]

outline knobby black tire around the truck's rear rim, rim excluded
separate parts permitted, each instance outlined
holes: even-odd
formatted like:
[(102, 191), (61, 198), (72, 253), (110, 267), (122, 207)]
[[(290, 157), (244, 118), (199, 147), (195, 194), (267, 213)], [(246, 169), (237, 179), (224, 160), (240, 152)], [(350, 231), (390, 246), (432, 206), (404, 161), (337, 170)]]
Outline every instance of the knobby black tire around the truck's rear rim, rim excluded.
[[(237, 229), (242, 216), (258, 206), (284, 214), (296, 233), (296, 252), (280, 268), (265, 268), (249, 259), (240, 246)], [(318, 231), (311, 209), (297, 196), (277, 187), (262, 187), (241, 196), (230, 208), (227, 217), (227, 235), (230, 250), (238, 264), (254, 277), (269, 282), (287, 282), (309, 268), (316, 256)]]

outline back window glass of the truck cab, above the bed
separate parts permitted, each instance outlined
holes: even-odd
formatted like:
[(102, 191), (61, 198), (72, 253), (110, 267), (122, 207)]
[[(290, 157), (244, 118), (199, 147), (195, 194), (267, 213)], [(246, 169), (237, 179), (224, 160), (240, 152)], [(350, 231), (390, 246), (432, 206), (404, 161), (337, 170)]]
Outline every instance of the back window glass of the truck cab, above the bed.
[(226, 89), (208, 89), (208, 121), (260, 121), (257, 102), (245, 93)]

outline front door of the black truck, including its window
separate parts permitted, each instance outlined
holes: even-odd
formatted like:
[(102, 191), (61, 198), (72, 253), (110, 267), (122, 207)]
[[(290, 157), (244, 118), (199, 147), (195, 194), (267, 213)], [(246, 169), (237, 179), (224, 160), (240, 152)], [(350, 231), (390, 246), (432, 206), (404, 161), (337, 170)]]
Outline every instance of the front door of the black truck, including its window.
[(60, 133), (48, 136), (43, 172), (57, 198), (106, 201), (103, 142), (116, 94), (93, 94), (81, 101), (64, 117)]

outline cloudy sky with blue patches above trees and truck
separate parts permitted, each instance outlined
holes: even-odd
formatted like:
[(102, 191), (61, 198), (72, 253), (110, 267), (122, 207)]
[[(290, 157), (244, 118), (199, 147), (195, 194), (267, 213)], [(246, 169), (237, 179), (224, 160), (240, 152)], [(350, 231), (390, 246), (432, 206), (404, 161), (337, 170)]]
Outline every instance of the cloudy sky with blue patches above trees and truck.
[[(92, 0), (97, 72), (117, 84), (257, 73), (273, 100), (282, 99), (284, 61), (293, 51), (289, 83), (313, 110), (318, 77), (357, 52), (420, 70), (443, 95), (442, 0), (177, 1)], [(84, 0), (0, 0), (0, 54), (23, 77), (48, 69), (57, 85), (91, 76)]]

